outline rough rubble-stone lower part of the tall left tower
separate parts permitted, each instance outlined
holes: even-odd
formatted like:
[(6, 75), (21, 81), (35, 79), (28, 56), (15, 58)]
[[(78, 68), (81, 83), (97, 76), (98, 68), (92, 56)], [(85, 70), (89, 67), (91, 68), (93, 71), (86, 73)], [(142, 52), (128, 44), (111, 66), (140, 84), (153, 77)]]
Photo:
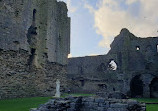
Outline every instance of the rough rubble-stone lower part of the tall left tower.
[(0, 51), (0, 99), (54, 96), (56, 80), (66, 88), (66, 67), (46, 62), (42, 69), (29, 67), (25, 50)]

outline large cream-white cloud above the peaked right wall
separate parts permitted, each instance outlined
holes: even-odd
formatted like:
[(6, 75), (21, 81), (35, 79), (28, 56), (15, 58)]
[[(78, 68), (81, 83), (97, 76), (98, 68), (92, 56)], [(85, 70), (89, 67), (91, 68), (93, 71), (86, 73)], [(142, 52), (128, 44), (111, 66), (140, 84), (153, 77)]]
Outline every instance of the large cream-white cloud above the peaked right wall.
[(99, 46), (109, 47), (122, 28), (140, 37), (157, 36), (157, 4), (158, 0), (102, 0), (97, 9), (85, 7), (94, 15), (96, 32), (103, 36)]

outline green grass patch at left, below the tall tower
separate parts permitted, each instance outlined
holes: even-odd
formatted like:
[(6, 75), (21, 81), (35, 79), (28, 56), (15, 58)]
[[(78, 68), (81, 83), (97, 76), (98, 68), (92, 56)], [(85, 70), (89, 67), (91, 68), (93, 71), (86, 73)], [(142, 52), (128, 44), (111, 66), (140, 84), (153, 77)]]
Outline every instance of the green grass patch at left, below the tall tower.
[(18, 98), (0, 100), (0, 111), (29, 111), (47, 102), (50, 97)]

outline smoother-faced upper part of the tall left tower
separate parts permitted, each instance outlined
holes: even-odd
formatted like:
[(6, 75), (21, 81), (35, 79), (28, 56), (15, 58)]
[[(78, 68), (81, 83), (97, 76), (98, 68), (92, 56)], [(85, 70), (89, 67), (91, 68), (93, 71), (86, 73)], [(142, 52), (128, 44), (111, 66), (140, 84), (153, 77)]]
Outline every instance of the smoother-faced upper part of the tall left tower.
[(66, 4), (56, 0), (0, 1), (0, 49), (24, 49), (31, 53), (33, 48), (37, 67), (44, 62), (45, 55), (50, 62), (67, 64), (70, 53), (67, 11)]

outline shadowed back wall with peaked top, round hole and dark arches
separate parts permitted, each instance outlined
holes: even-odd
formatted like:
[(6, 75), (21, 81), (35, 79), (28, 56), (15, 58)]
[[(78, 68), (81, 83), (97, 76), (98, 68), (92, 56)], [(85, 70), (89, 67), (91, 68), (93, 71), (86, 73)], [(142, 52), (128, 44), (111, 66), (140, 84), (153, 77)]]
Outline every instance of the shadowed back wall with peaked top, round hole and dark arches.
[(110, 47), (106, 55), (68, 60), (70, 90), (157, 98), (158, 37), (140, 38), (122, 29)]

